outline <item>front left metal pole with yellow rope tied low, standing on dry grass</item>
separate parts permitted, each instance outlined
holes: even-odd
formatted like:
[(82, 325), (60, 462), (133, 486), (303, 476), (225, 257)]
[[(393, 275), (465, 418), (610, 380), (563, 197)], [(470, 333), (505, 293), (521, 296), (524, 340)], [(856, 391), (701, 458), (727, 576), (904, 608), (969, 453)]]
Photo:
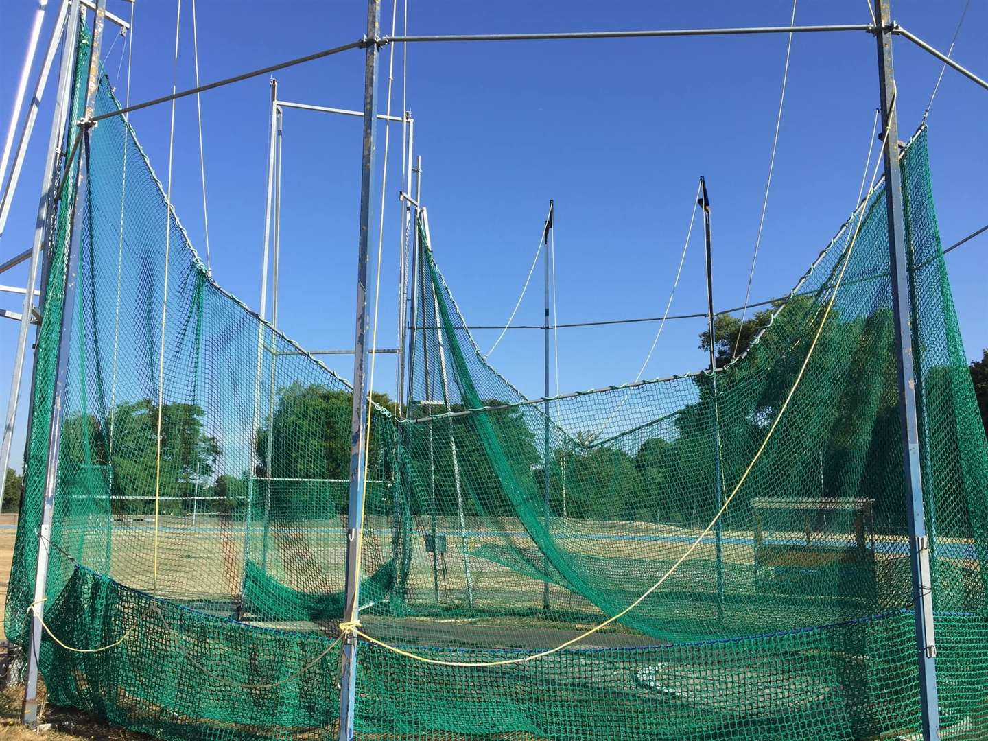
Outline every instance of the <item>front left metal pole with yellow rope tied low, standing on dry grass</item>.
[[(103, 41), (103, 20), (107, 0), (99, 0), (93, 22), (93, 38), (90, 41), (89, 76), (86, 87), (84, 120), (92, 119), (96, 107), (96, 94), (100, 84), (100, 46)], [(41, 512), (41, 532), (38, 535), (38, 566), (35, 572), (35, 600), (31, 611), (31, 633), (28, 643), (28, 684), (24, 693), (23, 720), (27, 725), (38, 722), (38, 663), (41, 655), (41, 620), (47, 591), (48, 557), (50, 555), (51, 523), (54, 518), (55, 492), (58, 484), (58, 453), (61, 440), (61, 408), (65, 400), (68, 379), (68, 354), (72, 334), (72, 309), (79, 272), (79, 240), (82, 230), (75, 229), (79, 211), (79, 197), (85, 192), (86, 170), (89, 167), (89, 125), (82, 126), (78, 135), (83, 137), (79, 150), (79, 169), (76, 175), (75, 196), (69, 220), (69, 239), (66, 245), (65, 291), (62, 296), (62, 312), (59, 325), (58, 355), (55, 361), (55, 386), (51, 399), (51, 416), (48, 428), (47, 463), (44, 473), (44, 507)], [(68, 167), (68, 163), (66, 163)]]

